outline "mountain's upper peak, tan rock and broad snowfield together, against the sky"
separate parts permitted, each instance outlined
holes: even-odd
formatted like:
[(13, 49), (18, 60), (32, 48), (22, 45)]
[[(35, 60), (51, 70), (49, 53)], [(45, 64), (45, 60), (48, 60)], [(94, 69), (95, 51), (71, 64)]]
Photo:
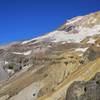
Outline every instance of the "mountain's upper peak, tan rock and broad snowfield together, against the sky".
[(75, 17), (68, 20), (59, 29), (44, 36), (24, 41), (22, 44), (32, 43), (32, 41), (37, 43), (45, 40), (48, 42), (79, 43), (84, 38), (96, 34), (100, 34), (100, 12)]

